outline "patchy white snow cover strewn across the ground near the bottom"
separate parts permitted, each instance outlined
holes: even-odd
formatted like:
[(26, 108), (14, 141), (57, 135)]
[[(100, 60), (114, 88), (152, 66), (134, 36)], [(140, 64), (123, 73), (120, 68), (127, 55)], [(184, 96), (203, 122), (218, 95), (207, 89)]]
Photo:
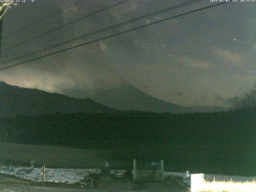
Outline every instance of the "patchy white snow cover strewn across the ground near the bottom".
[[(100, 174), (100, 169), (59, 169), (59, 168), (46, 168), (46, 182), (62, 182), (68, 184), (85, 184), (84, 178), (88, 173)], [(123, 175), (126, 170), (111, 170), (111, 174)], [(133, 172), (133, 171), (132, 171)], [(29, 167), (0, 167), (0, 173), (17, 176), (19, 178), (27, 179), (35, 182), (42, 182), (41, 168), (29, 168)], [(164, 172), (164, 178), (169, 176), (179, 176), (183, 178), (183, 182), (190, 186), (190, 176), (187, 172)], [(244, 176), (228, 176), (217, 174), (204, 174), (204, 179), (209, 181), (237, 181), (237, 182), (250, 182), (255, 180), (255, 177)]]

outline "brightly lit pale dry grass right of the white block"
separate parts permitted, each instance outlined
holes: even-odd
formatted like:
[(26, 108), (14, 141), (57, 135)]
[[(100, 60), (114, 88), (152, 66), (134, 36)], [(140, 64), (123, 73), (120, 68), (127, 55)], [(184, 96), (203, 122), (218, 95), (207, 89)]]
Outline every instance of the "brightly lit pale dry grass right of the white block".
[(256, 192), (256, 181), (205, 181), (201, 190), (198, 192)]

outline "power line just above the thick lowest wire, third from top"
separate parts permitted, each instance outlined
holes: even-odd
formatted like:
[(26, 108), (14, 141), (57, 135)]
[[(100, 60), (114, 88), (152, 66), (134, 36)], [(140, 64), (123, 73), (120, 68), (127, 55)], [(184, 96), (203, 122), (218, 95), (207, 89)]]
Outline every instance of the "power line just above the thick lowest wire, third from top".
[(2, 62), (1, 64), (6, 64), (6, 63), (12, 62), (12, 61), (14, 61), (14, 60), (18, 60), (18, 59), (24, 58), (24, 57), (26, 57), (26, 56), (31, 56), (31, 55), (36, 54), (36, 53), (38, 53), (38, 52), (44, 52), (44, 51), (49, 50), (49, 49), (51, 49), (51, 48), (55, 48), (55, 47), (58, 47), (58, 46), (62, 46), (62, 45), (64, 45), (64, 44), (68, 44), (68, 43), (70, 43), (70, 42), (73, 42), (73, 41), (76, 41), (76, 40), (80, 40), (80, 39), (82, 39), (82, 38), (86, 38), (86, 37), (88, 37), (88, 36), (92, 36), (92, 35), (95, 35), (95, 34), (99, 34), (99, 33), (102, 33), (102, 32), (106, 32), (106, 31), (108, 31), (108, 30), (112, 30), (112, 29), (114, 29), (114, 28), (117, 28), (117, 27), (120, 27), (120, 26), (124, 26), (124, 25), (130, 24), (130, 23), (132, 23), (132, 22), (137, 22), (137, 21), (143, 20), (143, 19), (145, 19), (145, 18), (151, 18), (151, 17), (153, 17), (153, 16), (156, 16), (156, 15), (159, 15), (159, 14), (163, 14), (163, 13), (165, 13), (165, 12), (167, 12), (167, 11), (174, 10), (174, 9), (176, 9), (176, 8), (182, 8), (182, 7), (184, 7), (184, 6), (188, 6), (188, 5), (191, 5), (191, 4), (195, 4), (195, 3), (198, 3), (198, 2), (201, 2), (201, 1), (203, 1), (203, 0), (193, 0), (193, 1), (191, 1), (191, 2), (187, 2), (187, 3), (183, 3), (183, 4), (180, 4), (180, 5), (177, 5), (177, 6), (173, 6), (173, 7), (170, 7), (170, 8), (166, 8), (166, 9), (164, 9), (164, 10), (160, 10), (160, 11), (157, 11), (157, 12), (154, 12), (154, 13), (151, 13), (151, 14), (147, 14), (147, 15), (141, 16), (141, 17), (139, 17), (139, 18), (134, 18), (134, 19), (132, 19), (132, 20), (128, 20), (128, 21), (126, 21), (126, 22), (122, 22), (122, 23), (120, 23), (120, 24), (113, 25), (113, 26), (104, 28), (104, 29), (102, 29), (102, 30), (98, 30), (98, 31), (96, 31), (96, 32), (91, 32), (91, 33), (88, 33), (88, 34), (85, 34), (85, 35), (82, 35), (82, 36), (73, 38), (73, 39), (71, 39), (71, 40), (67, 40), (67, 41), (64, 41), (64, 42), (61, 42), (61, 43), (52, 45), (52, 46), (50, 46), (50, 47), (43, 48), (43, 49), (41, 49), (41, 50), (37, 50), (37, 51), (35, 51), (35, 52), (31, 52), (31, 53), (29, 53), (29, 54), (25, 54), (25, 55), (22, 55), (22, 56), (13, 58), (13, 59), (11, 59), (11, 60)]

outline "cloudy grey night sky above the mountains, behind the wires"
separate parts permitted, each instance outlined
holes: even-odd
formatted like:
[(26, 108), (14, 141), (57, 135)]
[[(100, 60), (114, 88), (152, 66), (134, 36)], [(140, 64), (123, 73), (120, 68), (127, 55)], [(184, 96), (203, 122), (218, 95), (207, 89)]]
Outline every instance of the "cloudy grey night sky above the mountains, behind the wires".
[[(86, 0), (9, 36), (75, 2), (35, 0), (12, 6), (4, 15), (1, 63), (189, 1), (129, 0), (4, 51), (118, 0)], [(0, 64), (0, 67), (213, 4), (205, 0), (18, 61)], [(68, 90), (76, 88), (114, 89), (122, 86), (121, 76), (147, 94), (180, 106), (228, 106), (229, 98), (248, 91), (256, 83), (255, 12), (256, 3), (230, 2), (2, 70), (0, 80), (21, 87), (67, 94)], [(90, 94), (85, 97), (88, 96)]]

